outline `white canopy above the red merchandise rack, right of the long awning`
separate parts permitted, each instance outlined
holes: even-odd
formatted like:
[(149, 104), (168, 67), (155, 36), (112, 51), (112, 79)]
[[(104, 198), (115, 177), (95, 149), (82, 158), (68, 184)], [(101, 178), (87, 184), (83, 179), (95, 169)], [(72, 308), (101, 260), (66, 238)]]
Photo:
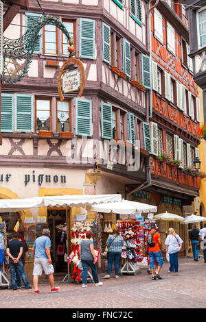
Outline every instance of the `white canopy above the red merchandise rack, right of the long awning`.
[(114, 212), (115, 214), (135, 214), (135, 212), (141, 214), (141, 212), (157, 212), (156, 206), (124, 199), (120, 202), (107, 203), (106, 205), (94, 205), (87, 209), (96, 212)]

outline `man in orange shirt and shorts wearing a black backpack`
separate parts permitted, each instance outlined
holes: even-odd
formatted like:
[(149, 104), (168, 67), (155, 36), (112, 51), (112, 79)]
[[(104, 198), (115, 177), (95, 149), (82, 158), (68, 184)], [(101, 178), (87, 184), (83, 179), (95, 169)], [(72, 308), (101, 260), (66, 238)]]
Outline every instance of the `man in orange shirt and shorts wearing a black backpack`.
[[(163, 266), (163, 257), (161, 254), (161, 236), (159, 232), (155, 230), (155, 223), (151, 223), (151, 230), (147, 236), (148, 253), (150, 258), (150, 271), (152, 273), (152, 280), (162, 280), (159, 275)], [(151, 235), (151, 236), (150, 236)], [(155, 273), (155, 260), (157, 261), (157, 273)]]

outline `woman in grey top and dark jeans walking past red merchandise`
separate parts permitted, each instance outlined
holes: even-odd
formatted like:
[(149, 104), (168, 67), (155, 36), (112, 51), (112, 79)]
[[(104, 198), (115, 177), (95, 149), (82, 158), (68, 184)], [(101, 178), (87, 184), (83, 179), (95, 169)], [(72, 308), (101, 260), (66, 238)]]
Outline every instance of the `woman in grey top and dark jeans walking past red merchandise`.
[(88, 269), (91, 268), (93, 281), (95, 286), (100, 286), (103, 283), (99, 282), (98, 270), (96, 263), (98, 258), (95, 256), (95, 251), (93, 249), (93, 240), (91, 240), (92, 232), (91, 230), (86, 232), (86, 238), (84, 238), (80, 243), (80, 260), (82, 262), (82, 287), (87, 287), (87, 276)]

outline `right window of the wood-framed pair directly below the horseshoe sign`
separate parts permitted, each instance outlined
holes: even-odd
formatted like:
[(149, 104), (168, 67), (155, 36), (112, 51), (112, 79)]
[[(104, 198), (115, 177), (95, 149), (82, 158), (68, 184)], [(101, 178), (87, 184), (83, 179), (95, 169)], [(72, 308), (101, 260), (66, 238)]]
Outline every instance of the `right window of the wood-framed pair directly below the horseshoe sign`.
[(71, 132), (71, 101), (57, 100), (57, 132)]

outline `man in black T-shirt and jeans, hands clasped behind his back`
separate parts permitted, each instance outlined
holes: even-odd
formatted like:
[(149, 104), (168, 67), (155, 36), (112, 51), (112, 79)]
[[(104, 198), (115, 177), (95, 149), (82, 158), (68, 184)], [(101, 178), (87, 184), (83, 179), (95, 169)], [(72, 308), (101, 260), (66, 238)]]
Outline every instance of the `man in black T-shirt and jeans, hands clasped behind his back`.
[(23, 267), (23, 262), (21, 260), (21, 256), (23, 253), (23, 245), (21, 241), (17, 239), (18, 235), (16, 232), (12, 234), (12, 240), (8, 243), (8, 247), (6, 249), (6, 254), (9, 256), (9, 265), (10, 265), (10, 273), (11, 273), (11, 282), (12, 289), (17, 290), (16, 284), (16, 273), (17, 275), (21, 274), (23, 283), (25, 285), (25, 289), (31, 289), (32, 286), (27, 281), (27, 277), (25, 275), (25, 270)]

